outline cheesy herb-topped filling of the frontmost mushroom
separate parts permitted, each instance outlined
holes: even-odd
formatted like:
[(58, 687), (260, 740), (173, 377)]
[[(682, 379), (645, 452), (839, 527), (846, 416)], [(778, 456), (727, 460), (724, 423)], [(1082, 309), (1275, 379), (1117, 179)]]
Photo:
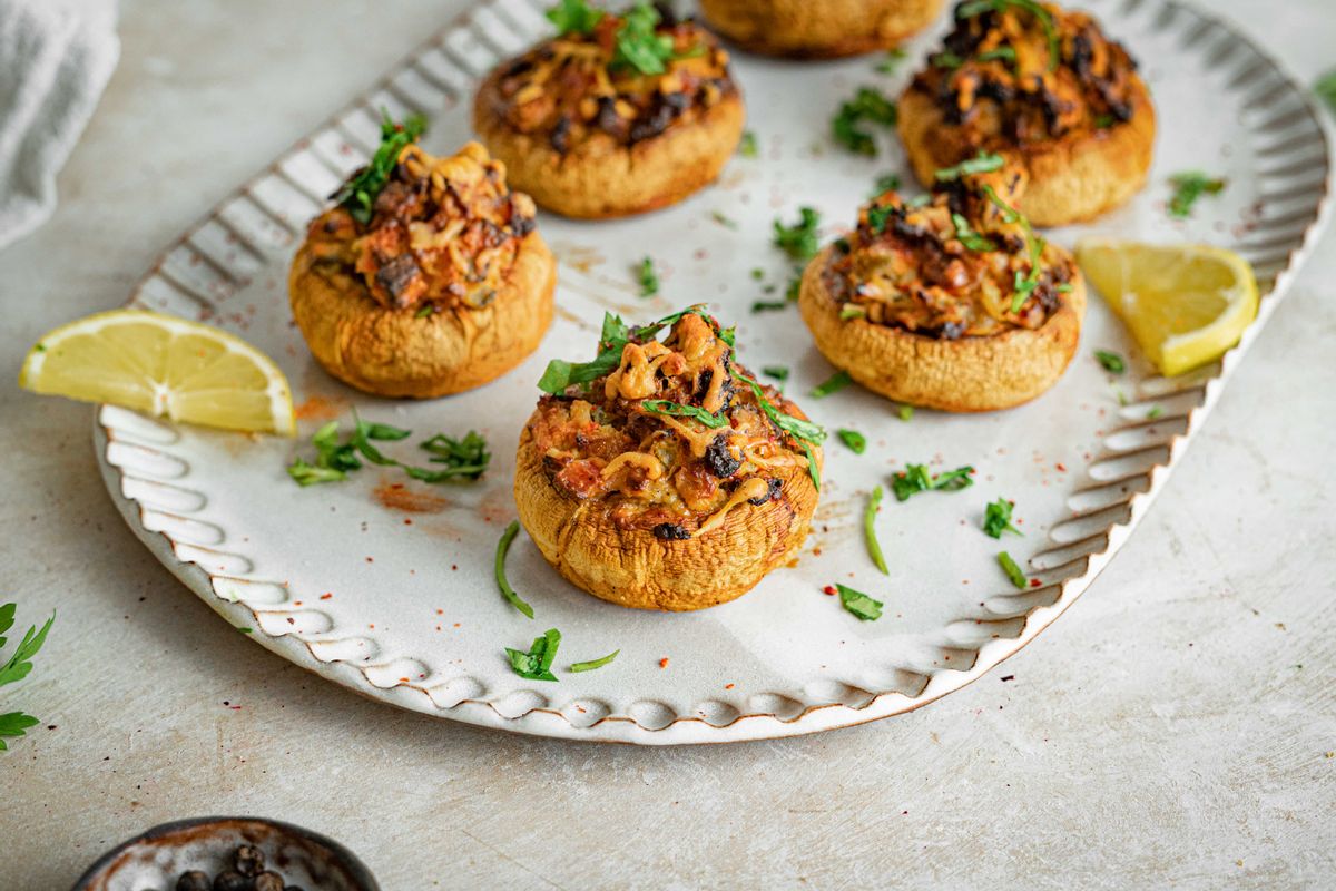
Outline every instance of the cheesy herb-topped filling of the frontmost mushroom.
[(784, 500), (795, 468), (815, 481), (810, 443), (824, 431), (733, 362), (731, 330), (696, 309), (624, 338), (609, 338), (609, 325), (620, 321), (604, 326), (604, 373), (542, 397), (529, 421), (554, 486), (601, 504), (619, 528), (677, 540), (744, 502)]

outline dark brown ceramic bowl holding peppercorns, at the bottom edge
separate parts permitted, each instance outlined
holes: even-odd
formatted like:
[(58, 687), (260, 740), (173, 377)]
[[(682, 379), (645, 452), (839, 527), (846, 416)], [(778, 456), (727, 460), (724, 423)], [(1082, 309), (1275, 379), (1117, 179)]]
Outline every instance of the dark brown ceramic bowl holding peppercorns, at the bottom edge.
[(238, 846), (253, 844), (265, 868), (305, 891), (381, 891), (375, 878), (338, 842), (291, 823), (206, 816), (155, 826), (98, 859), (73, 891), (172, 891), (187, 870), (210, 879), (231, 867)]

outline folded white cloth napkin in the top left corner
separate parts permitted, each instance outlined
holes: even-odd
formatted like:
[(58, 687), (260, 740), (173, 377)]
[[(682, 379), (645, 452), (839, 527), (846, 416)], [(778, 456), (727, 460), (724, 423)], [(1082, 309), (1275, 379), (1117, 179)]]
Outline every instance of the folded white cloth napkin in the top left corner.
[(0, 0), (0, 248), (56, 208), (56, 172), (120, 55), (115, 0)]

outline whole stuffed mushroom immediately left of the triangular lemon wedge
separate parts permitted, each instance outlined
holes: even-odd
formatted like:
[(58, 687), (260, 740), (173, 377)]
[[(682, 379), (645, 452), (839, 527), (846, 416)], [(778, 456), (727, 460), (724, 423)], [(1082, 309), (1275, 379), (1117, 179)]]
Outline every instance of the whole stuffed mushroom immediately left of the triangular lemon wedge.
[(1071, 255), (1014, 208), (1025, 174), (1002, 164), (983, 155), (943, 170), (919, 202), (887, 191), (812, 259), (799, 307), (831, 363), (946, 411), (1006, 409), (1062, 377), (1085, 285)]

